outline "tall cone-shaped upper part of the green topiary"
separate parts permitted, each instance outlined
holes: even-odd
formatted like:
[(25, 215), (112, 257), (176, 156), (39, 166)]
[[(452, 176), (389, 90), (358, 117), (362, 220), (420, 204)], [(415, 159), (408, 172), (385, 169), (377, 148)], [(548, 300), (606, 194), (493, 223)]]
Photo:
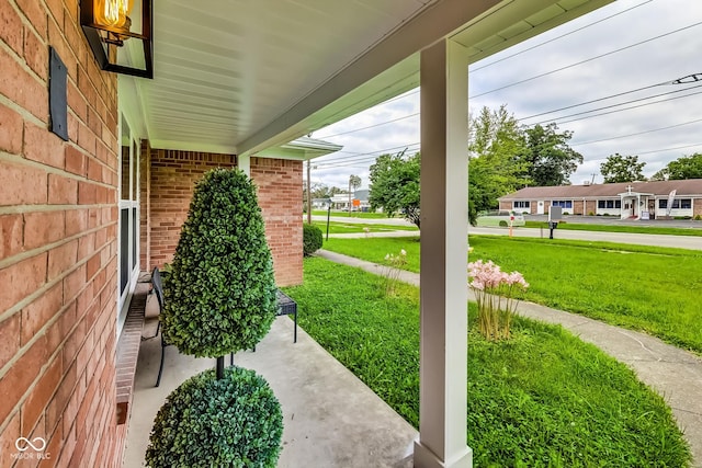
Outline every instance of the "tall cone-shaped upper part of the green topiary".
[(273, 261), (256, 187), (238, 169), (195, 185), (165, 289), (163, 336), (182, 353), (253, 347), (275, 318)]

